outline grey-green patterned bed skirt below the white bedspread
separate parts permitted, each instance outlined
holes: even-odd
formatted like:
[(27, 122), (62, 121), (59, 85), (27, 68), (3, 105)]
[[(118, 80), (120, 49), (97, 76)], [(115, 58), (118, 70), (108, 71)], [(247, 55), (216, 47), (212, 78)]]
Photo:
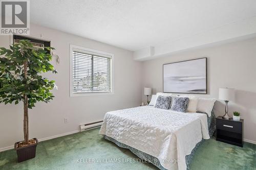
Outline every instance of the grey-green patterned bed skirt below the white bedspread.
[[(211, 116), (207, 118), (207, 122), (208, 122), (208, 129), (209, 129), (209, 135), (210, 137), (212, 137), (215, 133), (216, 130), (216, 117), (215, 114), (212, 112)], [(154, 164), (155, 166), (157, 166), (159, 169), (161, 170), (166, 170), (166, 168), (164, 168), (160, 161), (152, 156), (152, 155), (148, 155), (142, 151), (139, 151), (133, 147), (130, 147), (129, 145), (123, 144), (109, 136), (103, 135), (103, 137), (109, 141), (112, 141), (114, 143), (116, 143), (116, 145), (118, 145), (118, 147), (121, 148), (125, 148), (125, 149), (129, 149), (132, 153), (134, 153), (135, 155), (137, 155), (140, 159), (144, 159), (144, 160), (151, 160), (150, 163)], [(193, 156), (195, 155), (196, 150), (198, 149), (198, 147), (203, 143), (204, 139), (202, 139), (200, 142), (198, 142), (195, 146), (195, 148), (191, 151), (191, 154), (186, 155), (185, 159), (186, 159), (186, 165), (187, 165), (187, 169), (189, 169), (189, 164), (192, 161)]]

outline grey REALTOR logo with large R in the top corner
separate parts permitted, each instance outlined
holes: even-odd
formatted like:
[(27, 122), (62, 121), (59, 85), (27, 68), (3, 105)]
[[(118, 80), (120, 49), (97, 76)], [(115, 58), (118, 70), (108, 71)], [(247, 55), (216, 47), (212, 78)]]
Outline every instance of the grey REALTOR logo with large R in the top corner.
[(1, 1), (0, 34), (29, 34), (29, 1)]

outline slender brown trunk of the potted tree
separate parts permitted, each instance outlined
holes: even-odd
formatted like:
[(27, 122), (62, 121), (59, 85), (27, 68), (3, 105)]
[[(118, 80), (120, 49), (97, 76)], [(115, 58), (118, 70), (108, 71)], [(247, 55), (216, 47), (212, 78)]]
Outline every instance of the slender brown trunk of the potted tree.
[[(27, 79), (27, 67), (28, 62), (24, 62), (24, 79)], [(27, 80), (26, 80), (27, 82)], [(24, 94), (23, 96), (23, 102), (24, 102), (24, 120), (23, 120), (23, 131), (24, 131), (24, 141), (25, 144), (29, 144), (29, 115), (28, 115), (28, 96), (27, 94)]]

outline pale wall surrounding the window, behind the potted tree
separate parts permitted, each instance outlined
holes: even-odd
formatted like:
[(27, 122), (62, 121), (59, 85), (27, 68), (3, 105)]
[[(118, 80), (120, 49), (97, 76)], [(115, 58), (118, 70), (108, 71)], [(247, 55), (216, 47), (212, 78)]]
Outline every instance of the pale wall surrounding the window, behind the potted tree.
[[(53, 91), (56, 97), (49, 104), (37, 103), (33, 110), (29, 110), (30, 138), (42, 139), (77, 131), (79, 124), (102, 120), (107, 111), (139, 106), (142, 63), (133, 60), (132, 52), (37, 25), (31, 25), (30, 33), (31, 36), (40, 37), (42, 34), (44, 38), (50, 39), (51, 46), (56, 48), (55, 53), (61, 60), (60, 65), (52, 62), (58, 74), (46, 75), (49, 79), (56, 80), (58, 90)], [(9, 36), (0, 36), (1, 47), (8, 47), (9, 43)], [(114, 54), (113, 95), (70, 98), (70, 44)], [(23, 105), (0, 104), (0, 112), (0, 149), (3, 149), (23, 140)], [(64, 118), (68, 118), (67, 124), (64, 123)]]

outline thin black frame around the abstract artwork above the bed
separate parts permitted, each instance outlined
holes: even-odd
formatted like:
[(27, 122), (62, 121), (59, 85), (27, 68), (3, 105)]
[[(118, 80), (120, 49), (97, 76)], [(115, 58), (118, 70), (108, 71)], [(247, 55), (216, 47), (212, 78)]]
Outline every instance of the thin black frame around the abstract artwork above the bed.
[[(164, 65), (167, 65), (167, 64), (181, 63), (181, 62), (200, 60), (200, 59), (205, 59), (205, 75), (206, 75), (205, 87), (206, 87), (206, 90), (205, 90), (204, 93), (200, 93), (200, 92), (166, 92), (166, 91), (164, 91), (164, 72), (162, 72), (163, 73), (163, 77), (162, 77), (163, 78), (163, 87), (162, 87), (163, 92), (164, 93), (183, 93), (183, 94), (208, 94), (207, 57), (196, 58), (196, 59), (191, 59), (191, 60), (184, 60), (184, 61), (178, 61), (178, 62), (172, 62), (172, 63), (165, 63), (165, 64), (163, 64), (163, 67), (164, 67)], [(163, 67), (162, 67), (162, 69), (163, 69)]]

